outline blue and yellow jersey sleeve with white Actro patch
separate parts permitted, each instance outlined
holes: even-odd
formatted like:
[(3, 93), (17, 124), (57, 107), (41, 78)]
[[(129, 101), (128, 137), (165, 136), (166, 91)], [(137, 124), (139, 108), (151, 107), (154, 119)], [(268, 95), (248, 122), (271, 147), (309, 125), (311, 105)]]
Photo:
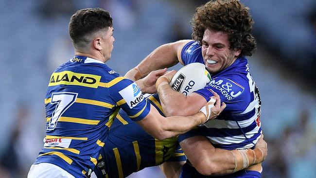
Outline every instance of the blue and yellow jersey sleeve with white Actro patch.
[(122, 78), (115, 84), (114, 90), (110, 90), (110, 95), (116, 105), (121, 107), (133, 121), (140, 121), (149, 113), (150, 103), (144, 99), (135, 82)]

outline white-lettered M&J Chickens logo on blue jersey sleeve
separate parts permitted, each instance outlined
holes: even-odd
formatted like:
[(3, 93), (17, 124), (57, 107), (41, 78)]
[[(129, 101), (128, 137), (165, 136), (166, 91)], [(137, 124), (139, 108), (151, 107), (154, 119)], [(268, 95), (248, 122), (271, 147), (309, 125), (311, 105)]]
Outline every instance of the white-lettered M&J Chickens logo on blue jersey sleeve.
[(223, 95), (227, 100), (236, 98), (245, 90), (243, 86), (227, 78), (214, 78), (207, 87), (211, 87), (217, 94)]

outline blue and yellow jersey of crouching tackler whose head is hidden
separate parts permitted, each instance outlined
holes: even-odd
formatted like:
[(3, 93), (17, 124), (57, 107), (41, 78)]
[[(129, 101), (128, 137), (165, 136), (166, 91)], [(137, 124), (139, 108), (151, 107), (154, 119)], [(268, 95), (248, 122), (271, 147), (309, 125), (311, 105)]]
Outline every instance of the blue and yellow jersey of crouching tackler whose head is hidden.
[[(163, 115), (158, 94), (146, 100)], [(98, 178), (125, 178), (145, 167), (185, 160), (176, 137), (163, 141), (153, 138), (121, 109), (110, 127), (94, 172)]]

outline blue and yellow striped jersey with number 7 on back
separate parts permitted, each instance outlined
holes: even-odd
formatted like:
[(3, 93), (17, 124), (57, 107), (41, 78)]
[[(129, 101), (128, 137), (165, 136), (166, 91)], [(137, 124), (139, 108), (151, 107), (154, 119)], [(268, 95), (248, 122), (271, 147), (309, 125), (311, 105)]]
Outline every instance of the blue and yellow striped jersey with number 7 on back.
[(133, 81), (84, 56), (53, 72), (45, 106), (46, 138), (35, 164), (55, 164), (76, 178), (94, 169), (119, 108), (134, 121), (150, 111)]

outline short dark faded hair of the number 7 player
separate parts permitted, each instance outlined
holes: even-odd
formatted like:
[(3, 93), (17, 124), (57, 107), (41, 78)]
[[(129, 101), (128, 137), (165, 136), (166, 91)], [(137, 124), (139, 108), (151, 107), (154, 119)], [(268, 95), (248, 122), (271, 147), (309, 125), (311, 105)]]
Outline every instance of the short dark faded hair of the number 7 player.
[(89, 36), (109, 27), (112, 27), (112, 18), (106, 10), (81, 9), (70, 18), (69, 34), (75, 48), (85, 48)]

